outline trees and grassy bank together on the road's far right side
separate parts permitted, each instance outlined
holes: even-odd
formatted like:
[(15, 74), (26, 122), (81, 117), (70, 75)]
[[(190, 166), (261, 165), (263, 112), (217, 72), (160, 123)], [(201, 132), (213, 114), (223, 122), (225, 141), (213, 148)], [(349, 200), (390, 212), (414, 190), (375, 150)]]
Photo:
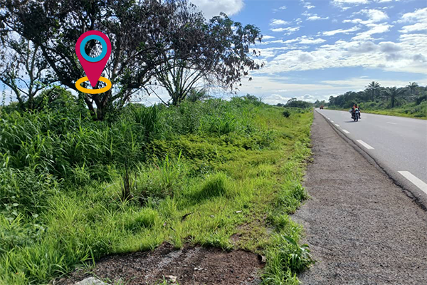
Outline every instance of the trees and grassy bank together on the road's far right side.
[(427, 120), (427, 86), (418, 86), (415, 82), (409, 83), (405, 88), (384, 88), (378, 82), (371, 82), (364, 91), (331, 96), (328, 108), (349, 110), (354, 103), (364, 113)]

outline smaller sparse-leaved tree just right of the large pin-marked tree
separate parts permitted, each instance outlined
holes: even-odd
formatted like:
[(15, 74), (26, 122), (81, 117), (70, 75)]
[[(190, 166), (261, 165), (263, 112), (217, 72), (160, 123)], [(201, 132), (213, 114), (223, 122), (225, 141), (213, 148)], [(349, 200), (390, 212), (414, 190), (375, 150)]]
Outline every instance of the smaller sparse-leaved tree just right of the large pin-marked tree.
[(250, 46), (262, 38), (253, 25), (242, 26), (221, 14), (209, 23), (199, 19), (199, 23), (185, 28), (191, 29), (186, 45), (192, 46), (192, 52), (172, 51), (175, 57), (159, 65), (155, 76), (168, 91), (173, 105), (184, 100), (190, 90), (206, 84), (233, 90), (249, 71), (263, 66), (251, 57), (259, 53), (251, 53)]

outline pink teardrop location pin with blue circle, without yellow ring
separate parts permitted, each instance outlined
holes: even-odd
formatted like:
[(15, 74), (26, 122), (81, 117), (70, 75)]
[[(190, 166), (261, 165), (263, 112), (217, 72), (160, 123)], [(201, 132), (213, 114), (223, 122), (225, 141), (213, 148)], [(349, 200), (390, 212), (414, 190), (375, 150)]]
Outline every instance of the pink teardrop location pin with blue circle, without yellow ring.
[[(102, 45), (102, 53), (95, 58), (88, 56), (85, 52), (85, 44), (90, 40), (99, 41)], [(78, 38), (75, 44), (75, 53), (77, 53), (78, 60), (83, 66), (86, 76), (88, 76), (90, 85), (95, 87), (111, 55), (110, 39), (100, 31), (87, 31)]]

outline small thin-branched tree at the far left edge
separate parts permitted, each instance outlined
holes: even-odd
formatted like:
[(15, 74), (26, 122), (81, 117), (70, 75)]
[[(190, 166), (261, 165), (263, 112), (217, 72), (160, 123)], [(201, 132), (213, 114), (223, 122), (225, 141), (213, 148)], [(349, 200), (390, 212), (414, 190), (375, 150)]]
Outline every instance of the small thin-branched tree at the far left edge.
[(48, 64), (38, 45), (21, 36), (3, 38), (0, 53), (0, 81), (11, 88), (21, 110), (34, 110), (35, 99), (44, 86), (52, 83)]

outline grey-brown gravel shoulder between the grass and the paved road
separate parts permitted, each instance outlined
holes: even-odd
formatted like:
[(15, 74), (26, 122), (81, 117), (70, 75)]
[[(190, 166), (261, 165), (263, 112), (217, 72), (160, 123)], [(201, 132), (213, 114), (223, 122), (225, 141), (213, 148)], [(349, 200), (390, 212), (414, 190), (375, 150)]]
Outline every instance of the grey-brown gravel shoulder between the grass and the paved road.
[(427, 284), (427, 212), (315, 112), (312, 199), (292, 216), (317, 264), (302, 284)]

